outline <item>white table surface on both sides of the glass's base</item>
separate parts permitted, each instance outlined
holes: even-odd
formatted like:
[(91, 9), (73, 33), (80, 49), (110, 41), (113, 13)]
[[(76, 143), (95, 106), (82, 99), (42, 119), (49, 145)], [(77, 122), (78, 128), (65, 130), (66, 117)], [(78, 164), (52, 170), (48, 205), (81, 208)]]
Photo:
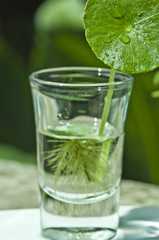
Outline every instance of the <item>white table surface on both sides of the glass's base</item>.
[[(159, 240), (159, 207), (120, 207), (114, 240)], [(40, 235), (39, 209), (0, 211), (0, 240), (46, 240)]]

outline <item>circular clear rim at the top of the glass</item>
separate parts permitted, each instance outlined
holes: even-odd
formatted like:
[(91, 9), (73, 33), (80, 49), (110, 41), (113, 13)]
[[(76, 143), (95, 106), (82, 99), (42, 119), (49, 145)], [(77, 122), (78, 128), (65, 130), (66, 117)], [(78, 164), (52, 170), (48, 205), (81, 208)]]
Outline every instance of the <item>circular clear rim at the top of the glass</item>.
[[(63, 82), (58, 82), (58, 81), (51, 81), (51, 80), (44, 80), (42, 78), (40, 78), (40, 74), (44, 74), (44, 73), (52, 73), (52, 79), (56, 79), (56, 78), (59, 78), (60, 76), (62, 75), (69, 75), (69, 74), (73, 74), (75, 73), (75, 71), (77, 73), (80, 74), (80, 71), (83, 71), (81, 72), (81, 74), (86, 74), (86, 75), (89, 75), (89, 76), (94, 76), (93, 75), (93, 72), (96, 72), (98, 73), (96, 77), (102, 77), (102, 73), (110, 73), (110, 70), (109, 68), (100, 68), (100, 67), (55, 67), (55, 68), (46, 68), (46, 69), (41, 69), (41, 70), (38, 70), (38, 71), (35, 71), (33, 73), (31, 73), (29, 75), (29, 81), (31, 83), (37, 83), (37, 84), (40, 84), (40, 85), (45, 85), (45, 86), (55, 86), (55, 87), (101, 87), (101, 86), (109, 86), (109, 85), (123, 85), (123, 84), (126, 84), (126, 83), (133, 83), (134, 82), (134, 77), (129, 74), (129, 73), (124, 73), (124, 72), (120, 72), (120, 71), (117, 71), (116, 70), (116, 74), (119, 74), (119, 75), (123, 75), (124, 79), (123, 80), (120, 80), (120, 81), (114, 81), (112, 83), (109, 83), (109, 82), (105, 82), (105, 83), (102, 83), (102, 82), (99, 82), (99, 83), (76, 83), (76, 84), (73, 84), (73, 83), (63, 83)], [(56, 72), (60, 72), (60, 73), (56, 73)], [(66, 72), (67, 71), (67, 72)], [(74, 72), (73, 72), (74, 71)], [(65, 73), (64, 73), (65, 72)], [(91, 74), (92, 73), (92, 74)]]

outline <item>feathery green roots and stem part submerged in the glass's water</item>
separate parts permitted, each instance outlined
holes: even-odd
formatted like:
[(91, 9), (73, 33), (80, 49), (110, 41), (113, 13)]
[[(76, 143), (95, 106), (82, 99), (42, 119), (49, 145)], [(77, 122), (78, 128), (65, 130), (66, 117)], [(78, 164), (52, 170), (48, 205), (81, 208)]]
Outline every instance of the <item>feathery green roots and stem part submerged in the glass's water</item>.
[[(106, 169), (105, 159), (114, 139), (98, 138), (88, 125), (73, 125), (67, 132), (55, 129), (51, 132), (58, 138), (50, 134), (47, 143), (51, 144), (51, 150), (45, 152), (45, 161), (54, 173), (55, 181), (62, 174), (84, 178), (87, 182), (101, 182)], [(48, 131), (42, 134), (49, 137)]]

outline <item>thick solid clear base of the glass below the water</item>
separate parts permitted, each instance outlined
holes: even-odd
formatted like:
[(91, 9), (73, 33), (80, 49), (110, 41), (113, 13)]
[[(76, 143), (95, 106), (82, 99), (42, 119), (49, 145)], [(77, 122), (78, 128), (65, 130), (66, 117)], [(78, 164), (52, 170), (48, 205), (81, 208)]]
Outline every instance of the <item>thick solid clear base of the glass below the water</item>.
[(118, 228), (118, 189), (101, 201), (69, 203), (41, 189), (41, 231), (51, 240), (108, 240)]

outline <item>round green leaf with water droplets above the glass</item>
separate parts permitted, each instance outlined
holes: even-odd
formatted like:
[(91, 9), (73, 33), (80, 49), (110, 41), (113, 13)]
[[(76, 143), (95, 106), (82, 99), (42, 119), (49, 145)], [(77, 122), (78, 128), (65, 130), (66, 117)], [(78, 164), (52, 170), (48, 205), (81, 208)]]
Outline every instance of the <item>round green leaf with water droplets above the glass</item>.
[(159, 66), (158, 0), (88, 0), (86, 38), (95, 55), (129, 73)]

